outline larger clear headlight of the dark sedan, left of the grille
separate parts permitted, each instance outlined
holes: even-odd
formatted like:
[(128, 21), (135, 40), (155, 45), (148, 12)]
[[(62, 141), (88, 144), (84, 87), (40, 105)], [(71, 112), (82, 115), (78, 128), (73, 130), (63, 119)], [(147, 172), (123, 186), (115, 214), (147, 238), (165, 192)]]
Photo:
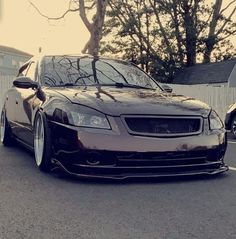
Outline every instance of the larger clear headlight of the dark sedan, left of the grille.
[(111, 129), (110, 124), (103, 113), (76, 104), (65, 105), (62, 110), (56, 109), (54, 112), (54, 119), (55, 118), (61, 118), (59, 121), (62, 123), (68, 123), (80, 127)]

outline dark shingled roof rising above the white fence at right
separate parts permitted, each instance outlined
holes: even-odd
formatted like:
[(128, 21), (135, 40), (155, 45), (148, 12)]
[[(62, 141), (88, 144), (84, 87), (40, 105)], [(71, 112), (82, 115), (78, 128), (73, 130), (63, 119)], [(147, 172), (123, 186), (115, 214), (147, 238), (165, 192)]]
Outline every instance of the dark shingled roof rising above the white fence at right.
[(236, 59), (233, 59), (185, 68), (176, 74), (173, 83), (182, 85), (227, 83), (235, 65)]

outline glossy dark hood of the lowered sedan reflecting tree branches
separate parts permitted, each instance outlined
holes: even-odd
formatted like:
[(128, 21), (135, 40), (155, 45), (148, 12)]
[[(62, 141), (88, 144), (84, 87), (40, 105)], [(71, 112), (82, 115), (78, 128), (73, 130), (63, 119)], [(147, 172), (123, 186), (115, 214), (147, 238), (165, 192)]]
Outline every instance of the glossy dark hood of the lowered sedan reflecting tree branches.
[(211, 108), (194, 98), (154, 90), (88, 87), (55, 89), (72, 103), (86, 105), (107, 115), (158, 114), (201, 115), (207, 117)]

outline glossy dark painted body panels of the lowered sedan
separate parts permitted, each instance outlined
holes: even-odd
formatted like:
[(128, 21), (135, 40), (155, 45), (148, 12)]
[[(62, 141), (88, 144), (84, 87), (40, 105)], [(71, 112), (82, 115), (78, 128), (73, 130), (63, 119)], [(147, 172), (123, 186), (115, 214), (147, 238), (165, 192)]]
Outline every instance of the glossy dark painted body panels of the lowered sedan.
[[(52, 135), (55, 167), (72, 175), (115, 179), (227, 171), (223, 161), (227, 148), (225, 130), (209, 129), (211, 108), (205, 103), (161, 89), (48, 87), (41, 83), (43, 59), (33, 59), (27, 64), (31, 62), (37, 64), (31, 80), (38, 87), (25, 89), (15, 84), (18, 87), (12, 87), (6, 94), (4, 108), (15, 138), (32, 150), (35, 116), (38, 110), (45, 114)], [(69, 124), (66, 111), (72, 104), (102, 112), (111, 130)], [(127, 131), (122, 115), (200, 116), (204, 127), (200, 134), (187, 137), (134, 136)]]

